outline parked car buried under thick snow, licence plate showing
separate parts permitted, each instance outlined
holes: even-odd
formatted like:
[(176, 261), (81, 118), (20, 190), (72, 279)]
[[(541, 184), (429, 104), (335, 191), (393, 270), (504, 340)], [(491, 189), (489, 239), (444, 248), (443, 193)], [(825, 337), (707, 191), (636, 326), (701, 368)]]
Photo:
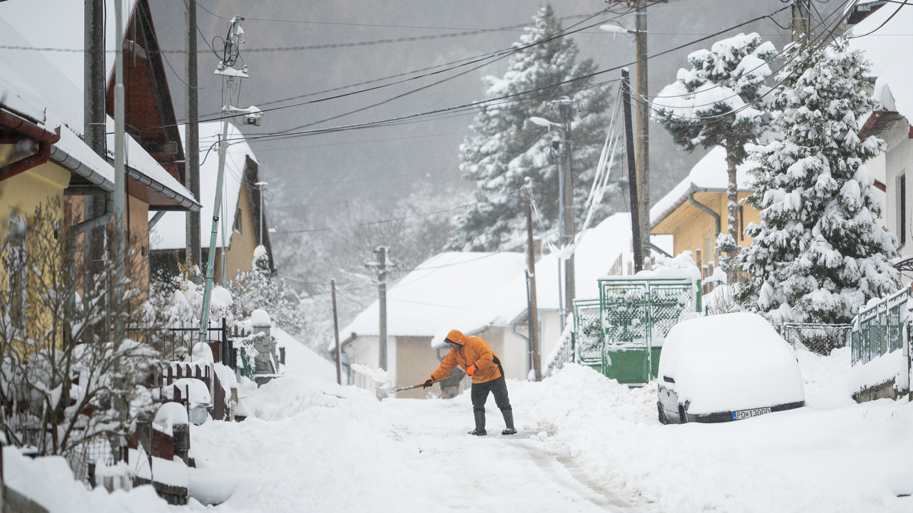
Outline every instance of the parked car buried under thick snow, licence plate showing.
[(666, 335), (658, 379), (663, 424), (736, 421), (805, 403), (792, 347), (753, 313), (678, 323)]

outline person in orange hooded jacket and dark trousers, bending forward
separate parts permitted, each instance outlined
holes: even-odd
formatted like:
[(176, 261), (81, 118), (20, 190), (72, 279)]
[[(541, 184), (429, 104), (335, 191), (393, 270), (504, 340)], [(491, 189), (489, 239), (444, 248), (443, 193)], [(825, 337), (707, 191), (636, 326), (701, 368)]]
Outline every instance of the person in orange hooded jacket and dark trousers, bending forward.
[(504, 415), (504, 424), (506, 428), (501, 434), (517, 434), (513, 426), (513, 410), (510, 408), (508, 399), (508, 384), (504, 379), (504, 368), (501, 367), (501, 361), (498, 355), (481, 337), (467, 337), (462, 331), (451, 330), (447, 333), (445, 339), (450, 351), (441, 361), (440, 367), (431, 373), (431, 378), (425, 381), (422, 388), (428, 388), (435, 382), (446, 378), (459, 365), (466, 369), (466, 373), (472, 376), (472, 413), (476, 416), (476, 429), (469, 432), (482, 436), (488, 434), (485, 431), (485, 402), (488, 401), (488, 393), (495, 396), (495, 403)]

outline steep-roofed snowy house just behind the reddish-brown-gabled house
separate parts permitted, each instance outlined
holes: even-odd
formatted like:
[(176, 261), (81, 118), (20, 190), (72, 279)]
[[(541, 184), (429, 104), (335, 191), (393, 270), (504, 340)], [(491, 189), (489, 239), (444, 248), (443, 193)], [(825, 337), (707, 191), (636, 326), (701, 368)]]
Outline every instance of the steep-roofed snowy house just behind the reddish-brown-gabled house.
[[(200, 123), (200, 198), (203, 208), (200, 219), (205, 222), (200, 229), (200, 247), (203, 261), (209, 254), (212, 237), (213, 206), (215, 204), (215, 182), (219, 170), (219, 145), (222, 136), (222, 122)], [(181, 131), (184, 138), (184, 130)], [(261, 188), (259, 163), (244, 135), (234, 124), (228, 124), (226, 169), (223, 177), (222, 212), (215, 237), (215, 270), (213, 279), (223, 283), (223, 276), (231, 280), (239, 272), (253, 268), (254, 250), (262, 245), (267, 250), (269, 268), (273, 274), (272, 244), (269, 241), (268, 217), (260, 207)], [(184, 261), (186, 221), (183, 212), (168, 212), (152, 227), (152, 267), (165, 270), (173, 276), (177, 263)], [(222, 269), (226, 272), (223, 274)]]

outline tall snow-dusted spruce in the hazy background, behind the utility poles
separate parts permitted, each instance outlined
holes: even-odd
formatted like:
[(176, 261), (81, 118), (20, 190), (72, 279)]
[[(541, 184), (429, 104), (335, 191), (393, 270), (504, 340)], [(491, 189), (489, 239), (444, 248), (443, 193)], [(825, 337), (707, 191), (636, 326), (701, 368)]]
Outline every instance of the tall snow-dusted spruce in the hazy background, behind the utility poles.
[[(571, 129), (574, 218), (582, 222), (582, 207), (593, 183), (608, 125), (609, 88), (593, 87), (593, 79), (579, 79), (596, 70), (593, 59), (577, 62), (579, 49), (570, 37), (555, 37), (561, 24), (551, 5), (534, 16), (535, 26), (520, 37), (509, 70), (503, 78), (484, 79), (490, 98), (513, 97), (482, 106), (472, 125), (475, 134), (460, 145), (460, 171), (476, 183), (474, 204), (456, 216), (447, 249), (496, 251), (519, 249), (525, 243), (523, 178), (530, 176), (533, 196), (546, 228), (558, 221), (558, 161), (550, 155), (552, 137), (560, 137), (530, 122), (537, 116), (561, 122), (558, 99), (573, 100)], [(613, 191), (607, 192), (608, 196)], [(593, 223), (611, 214), (597, 205)]]

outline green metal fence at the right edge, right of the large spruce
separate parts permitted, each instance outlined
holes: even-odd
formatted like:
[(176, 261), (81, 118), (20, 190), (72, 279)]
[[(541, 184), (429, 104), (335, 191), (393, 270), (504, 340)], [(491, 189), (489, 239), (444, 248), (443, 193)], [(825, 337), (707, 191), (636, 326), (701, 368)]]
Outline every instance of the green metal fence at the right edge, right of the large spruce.
[(867, 363), (903, 347), (908, 298), (910, 288), (903, 288), (856, 315), (851, 336), (853, 365)]

